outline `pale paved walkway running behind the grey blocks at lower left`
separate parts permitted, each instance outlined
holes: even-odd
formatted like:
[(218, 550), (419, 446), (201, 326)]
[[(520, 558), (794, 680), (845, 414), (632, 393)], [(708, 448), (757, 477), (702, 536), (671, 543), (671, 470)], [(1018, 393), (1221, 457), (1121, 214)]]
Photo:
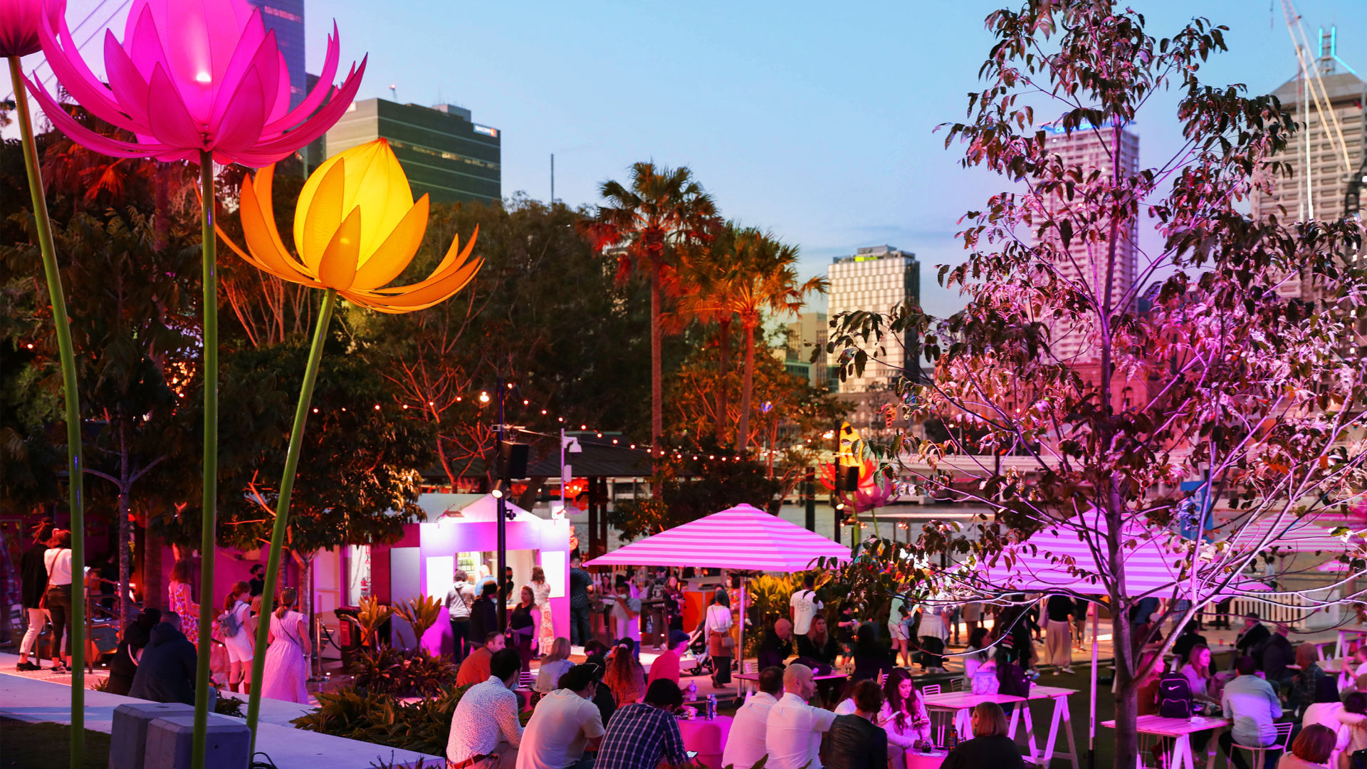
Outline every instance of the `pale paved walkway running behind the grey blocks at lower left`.
[[(38, 680), (14, 672), (12, 654), (0, 655), (0, 716), (19, 721), (71, 724), (71, 683)], [(85, 725), (109, 733), (113, 709), (141, 702), (103, 691), (86, 691)], [(257, 751), (271, 757), (276, 766), (323, 766), (328, 769), (372, 769), (375, 764), (440, 766), (444, 761), (411, 750), (394, 750), (368, 742), (349, 740), (297, 729), (288, 725), (305, 710), (294, 702), (261, 701), (261, 724), (257, 727)], [(238, 718), (238, 721), (243, 721)]]

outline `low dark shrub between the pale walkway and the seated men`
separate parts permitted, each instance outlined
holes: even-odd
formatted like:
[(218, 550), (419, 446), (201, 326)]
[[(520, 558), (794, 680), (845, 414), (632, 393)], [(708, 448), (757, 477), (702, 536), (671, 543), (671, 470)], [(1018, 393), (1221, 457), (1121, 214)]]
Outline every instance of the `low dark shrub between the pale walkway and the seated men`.
[(431, 698), (411, 703), (360, 688), (320, 692), (319, 709), (291, 722), (312, 732), (446, 755), (451, 716), (466, 688), (442, 687)]

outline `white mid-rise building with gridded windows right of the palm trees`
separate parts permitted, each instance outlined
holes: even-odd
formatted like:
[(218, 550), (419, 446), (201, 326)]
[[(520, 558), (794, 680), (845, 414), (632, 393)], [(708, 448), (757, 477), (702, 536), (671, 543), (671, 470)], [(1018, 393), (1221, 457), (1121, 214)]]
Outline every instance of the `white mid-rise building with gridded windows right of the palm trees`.
[[(838, 256), (827, 278), (831, 283), (827, 300), (831, 319), (854, 311), (887, 313), (906, 300), (921, 301), (921, 265), (916, 255), (893, 246), (861, 248), (854, 256)], [(887, 339), (883, 348), (887, 354), (878, 361), (871, 360), (864, 376), (841, 382), (841, 393), (884, 387), (904, 375), (905, 365), (912, 367), (910, 376), (919, 376), (920, 359), (913, 338)]]

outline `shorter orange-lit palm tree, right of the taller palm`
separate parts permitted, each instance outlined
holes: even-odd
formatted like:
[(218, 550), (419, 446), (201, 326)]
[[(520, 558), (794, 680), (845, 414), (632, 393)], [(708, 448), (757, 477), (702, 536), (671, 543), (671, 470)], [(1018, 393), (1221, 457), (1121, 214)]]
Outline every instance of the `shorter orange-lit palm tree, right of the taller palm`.
[(804, 298), (826, 293), (826, 278), (798, 283), (797, 248), (785, 245), (771, 233), (748, 230), (737, 242), (734, 268), (725, 276), (725, 304), (745, 331), (745, 374), (741, 379), (741, 417), (735, 435), (740, 449), (749, 445), (750, 395), (755, 390), (755, 330), (766, 312), (801, 312)]

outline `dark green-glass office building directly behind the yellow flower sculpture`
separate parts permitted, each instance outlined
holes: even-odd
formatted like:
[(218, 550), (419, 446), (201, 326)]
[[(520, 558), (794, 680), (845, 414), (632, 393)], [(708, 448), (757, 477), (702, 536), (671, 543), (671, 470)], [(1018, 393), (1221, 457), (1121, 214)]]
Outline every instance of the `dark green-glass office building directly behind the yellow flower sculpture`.
[(421, 107), (384, 99), (355, 101), (328, 130), (328, 157), (385, 138), (403, 166), (413, 197), (433, 201), (502, 200), (502, 131), (470, 120), (452, 104)]

